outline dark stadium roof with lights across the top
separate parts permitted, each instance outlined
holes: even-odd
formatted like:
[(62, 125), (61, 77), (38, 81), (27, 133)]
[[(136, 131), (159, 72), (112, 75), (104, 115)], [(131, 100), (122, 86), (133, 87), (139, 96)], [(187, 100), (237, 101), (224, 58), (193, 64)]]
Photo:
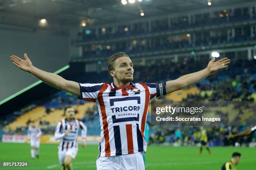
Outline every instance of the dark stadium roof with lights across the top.
[[(254, 0), (210, 0), (212, 6), (232, 5)], [(128, 0), (127, 0), (128, 2)], [(0, 0), (1, 25), (41, 28), (38, 21), (46, 18), (47, 28), (79, 25), (100, 25), (140, 18), (187, 12), (207, 7), (207, 0), (142, 0), (123, 5), (121, 0)]]

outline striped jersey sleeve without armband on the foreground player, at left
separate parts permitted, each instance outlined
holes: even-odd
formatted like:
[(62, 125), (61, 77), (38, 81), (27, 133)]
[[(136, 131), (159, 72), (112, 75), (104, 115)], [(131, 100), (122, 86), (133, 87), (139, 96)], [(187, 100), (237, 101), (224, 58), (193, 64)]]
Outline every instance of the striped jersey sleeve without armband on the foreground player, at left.
[(96, 102), (98, 93), (100, 89), (102, 88), (104, 83), (98, 83), (98, 84), (82, 84), (79, 83), (80, 86), (80, 99), (86, 100), (89, 102)]

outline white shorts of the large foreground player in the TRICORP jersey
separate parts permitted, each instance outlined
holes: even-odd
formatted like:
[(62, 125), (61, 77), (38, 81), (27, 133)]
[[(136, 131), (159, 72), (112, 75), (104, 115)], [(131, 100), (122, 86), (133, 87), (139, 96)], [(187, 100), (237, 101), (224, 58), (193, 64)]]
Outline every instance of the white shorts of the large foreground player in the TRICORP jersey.
[(99, 157), (97, 170), (145, 170), (142, 153)]

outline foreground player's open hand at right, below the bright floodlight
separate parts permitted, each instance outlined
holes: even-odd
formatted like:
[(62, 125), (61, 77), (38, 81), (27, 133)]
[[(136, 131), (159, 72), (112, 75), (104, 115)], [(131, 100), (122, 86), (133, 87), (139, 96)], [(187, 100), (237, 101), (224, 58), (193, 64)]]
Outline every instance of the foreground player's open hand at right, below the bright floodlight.
[(212, 57), (212, 60), (210, 60), (210, 62), (207, 65), (207, 69), (210, 71), (210, 73), (226, 68), (230, 64), (230, 59), (228, 59), (227, 57), (222, 58), (216, 62), (214, 62), (214, 60), (215, 57)]

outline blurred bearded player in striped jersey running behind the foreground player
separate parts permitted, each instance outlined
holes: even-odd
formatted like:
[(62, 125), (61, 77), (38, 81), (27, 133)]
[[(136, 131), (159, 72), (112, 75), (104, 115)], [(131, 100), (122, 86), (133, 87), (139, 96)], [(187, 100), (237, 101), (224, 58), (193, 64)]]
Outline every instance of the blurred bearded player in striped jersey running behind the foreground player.
[(74, 109), (70, 106), (64, 108), (65, 119), (62, 119), (54, 134), (55, 140), (61, 140), (59, 144), (59, 163), (62, 165), (62, 170), (72, 170), (72, 160), (77, 155), (77, 135), (81, 129), (82, 147), (85, 147), (85, 138), (87, 128), (83, 122), (74, 118)]

